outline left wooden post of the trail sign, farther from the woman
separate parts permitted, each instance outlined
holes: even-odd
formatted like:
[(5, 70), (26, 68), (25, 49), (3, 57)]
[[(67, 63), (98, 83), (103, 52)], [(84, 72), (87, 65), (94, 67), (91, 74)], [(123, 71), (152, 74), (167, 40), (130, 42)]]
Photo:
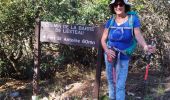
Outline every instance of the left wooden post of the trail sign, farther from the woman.
[(39, 69), (40, 69), (40, 18), (39, 12), (35, 18), (35, 44), (34, 44), (34, 75), (32, 100), (38, 100), (39, 95)]

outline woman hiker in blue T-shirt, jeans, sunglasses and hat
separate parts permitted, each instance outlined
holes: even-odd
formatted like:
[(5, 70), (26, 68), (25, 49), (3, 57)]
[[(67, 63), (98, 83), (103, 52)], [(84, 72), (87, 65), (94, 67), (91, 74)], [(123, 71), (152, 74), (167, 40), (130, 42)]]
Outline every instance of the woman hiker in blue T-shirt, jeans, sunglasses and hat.
[(147, 45), (145, 42), (140, 31), (141, 25), (138, 16), (128, 14), (131, 8), (128, 0), (112, 0), (109, 7), (114, 16), (106, 22), (101, 39), (109, 99), (125, 100), (125, 82), (131, 55), (124, 51), (134, 48), (132, 46), (134, 38), (146, 52), (155, 52), (155, 47)]

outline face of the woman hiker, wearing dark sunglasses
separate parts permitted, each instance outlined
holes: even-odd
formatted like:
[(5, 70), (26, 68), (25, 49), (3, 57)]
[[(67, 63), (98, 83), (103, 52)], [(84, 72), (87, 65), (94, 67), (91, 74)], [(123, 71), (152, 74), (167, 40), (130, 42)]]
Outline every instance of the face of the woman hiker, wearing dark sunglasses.
[(115, 2), (114, 3), (115, 13), (120, 15), (125, 13), (125, 4), (123, 2)]

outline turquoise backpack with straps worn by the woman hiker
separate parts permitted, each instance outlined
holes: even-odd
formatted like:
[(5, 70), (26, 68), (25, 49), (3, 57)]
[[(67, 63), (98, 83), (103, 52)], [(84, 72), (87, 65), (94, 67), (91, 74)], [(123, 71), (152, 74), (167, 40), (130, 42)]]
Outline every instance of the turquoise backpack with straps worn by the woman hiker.
[[(119, 49), (117, 49), (117, 48), (115, 48), (115, 47), (113, 47), (113, 49), (114, 50), (116, 50), (116, 51), (119, 51), (119, 52), (121, 52), (121, 53), (123, 53), (123, 54), (125, 54), (125, 55), (129, 55), (129, 56), (131, 56), (133, 53), (134, 53), (134, 51), (135, 51), (135, 49), (136, 49), (136, 47), (137, 47), (137, 40), (136, 40), (136, 38), (135, 38), (135, 34), (134, 34), (134, 30), (133, 30), (133, 15), (137, 15), (137, 12), (135, 12), (135, 11), (130, 11), (130, 12), (128, 12), (127, 13), (128, 15), (130, 15), (130, 20), (129, 20), (129, 25), (130, 25), (130, 27), (123, 27), (124, 29), (132, 29), (132, 36), (133, 36), (133, 39), (132, 39), (132, 45), (130, 46), (130, 47), (128, 47), (128, 48), (126, 48), (125, 50), (119, 50)], [(111, 22), (110, 22), (110, 26), (109, 26), (109, 29), (110, 28), (116, 28), (116, 27), (112, 27), (112, 25), (113, 25), (113, 22), (114, 22), (114, 16), (112, 16), (112, 20), (111, 20)]]

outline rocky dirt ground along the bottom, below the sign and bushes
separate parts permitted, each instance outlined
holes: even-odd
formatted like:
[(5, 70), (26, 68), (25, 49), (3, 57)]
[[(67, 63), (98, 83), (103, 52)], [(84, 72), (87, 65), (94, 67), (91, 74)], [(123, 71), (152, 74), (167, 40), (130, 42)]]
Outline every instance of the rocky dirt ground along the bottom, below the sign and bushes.
[[(43, 80), (40, 82), (41, 100), (92, 100), (94, 75), (77, 82), (63, 79)], [(61, 83), (60, 83), (61, 82)], [(170, 77), (161, 79), (159, 75), (150, 74), (146, 88), (143, 75), (129, 73), (126, 84), (127, 100), (170, 100)], [(31, 100), (31, 80), (0, 79), (0, 100)], [(102, 72), (100, 99), (107, 100), (107, 82)]]

